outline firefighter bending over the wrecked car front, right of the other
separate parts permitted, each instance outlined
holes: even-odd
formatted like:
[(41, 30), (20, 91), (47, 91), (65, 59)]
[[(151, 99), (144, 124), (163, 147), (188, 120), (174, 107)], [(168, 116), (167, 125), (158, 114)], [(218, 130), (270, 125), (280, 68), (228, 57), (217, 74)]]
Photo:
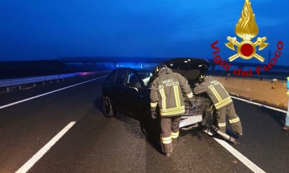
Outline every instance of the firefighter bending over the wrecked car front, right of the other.
[(211, 76), (203, 74), (198, 78), (198, 83), (195, 84), (193, 93), (207, 93), (211, 98), (216, 110), (217, 110), (217, 126), (222, 132), (226, 132), (226, 115), (228, 115), (229, 122), (236, 133), (236, 135), (242, 135), (242, 124), (235, 112), (233, 100), (223, 85)]

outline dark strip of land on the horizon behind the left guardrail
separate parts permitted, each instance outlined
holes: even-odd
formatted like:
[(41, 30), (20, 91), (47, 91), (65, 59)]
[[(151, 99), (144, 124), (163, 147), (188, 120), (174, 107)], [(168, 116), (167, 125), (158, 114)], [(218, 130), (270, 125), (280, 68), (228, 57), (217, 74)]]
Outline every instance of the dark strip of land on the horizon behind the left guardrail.
[(0, 62), (0, 79), (111, 69), (105, 63), (65, 63), (58, 60)]

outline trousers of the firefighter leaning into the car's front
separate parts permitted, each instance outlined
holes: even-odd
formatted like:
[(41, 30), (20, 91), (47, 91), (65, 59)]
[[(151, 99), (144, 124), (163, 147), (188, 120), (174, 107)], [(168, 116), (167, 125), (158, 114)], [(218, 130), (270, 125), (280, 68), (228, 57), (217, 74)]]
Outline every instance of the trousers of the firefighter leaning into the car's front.
[(228, 115), (229, 122), (234, 132), (236, 132), (237, 135), (242, 135), (242, 124), (233, 103), (217, 110), (217, 124), (219, 129), (226, 132), (226, 115)]

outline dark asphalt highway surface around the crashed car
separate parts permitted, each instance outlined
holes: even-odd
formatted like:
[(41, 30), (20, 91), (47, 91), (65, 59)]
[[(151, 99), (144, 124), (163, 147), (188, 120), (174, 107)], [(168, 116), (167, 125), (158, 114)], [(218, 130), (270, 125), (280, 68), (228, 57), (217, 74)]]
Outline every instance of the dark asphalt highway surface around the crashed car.
[[(182, 130), (173, 155), (164, 157), (136, 119), (103, 115), (100, 77), (1, 93), (0, 172), (253, 172), (231, 149), (195, 128)], [(244, 137), (242, 145), (230, 146), (259, 172), (288, 172), (284, 113), (240, 100), (234, 104)]]

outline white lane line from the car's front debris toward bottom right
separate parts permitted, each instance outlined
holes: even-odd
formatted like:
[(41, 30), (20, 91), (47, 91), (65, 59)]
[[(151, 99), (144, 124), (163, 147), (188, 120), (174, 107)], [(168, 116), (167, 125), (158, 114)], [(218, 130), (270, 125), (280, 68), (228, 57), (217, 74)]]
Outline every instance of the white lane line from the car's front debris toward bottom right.
[(264, 170), (262, 170), (257, 165), (255, 165), (255, 163), (250, 161), (247, 157), (244, 157), (243, 154), (241, 154), (235, 148), (230, 146), (226, 141), (224, 141), (222, 139), (216, 139), (215, 137), (213, 139), (215, 139), (215, 141), (220, 143), (221, 146), (226, 148), (226, 150), (228, 150), (228, 152), (231, 152), (231, 154), (233, 154), (233, 156), (235, 156), (237, 159), (239, 159), (239, 161), (242, 161), (242, 163), (244, 163), (244, 165), (246, 165), (253, 172), (258, 172), (258, 173), (259, 172), (264, 172)]

